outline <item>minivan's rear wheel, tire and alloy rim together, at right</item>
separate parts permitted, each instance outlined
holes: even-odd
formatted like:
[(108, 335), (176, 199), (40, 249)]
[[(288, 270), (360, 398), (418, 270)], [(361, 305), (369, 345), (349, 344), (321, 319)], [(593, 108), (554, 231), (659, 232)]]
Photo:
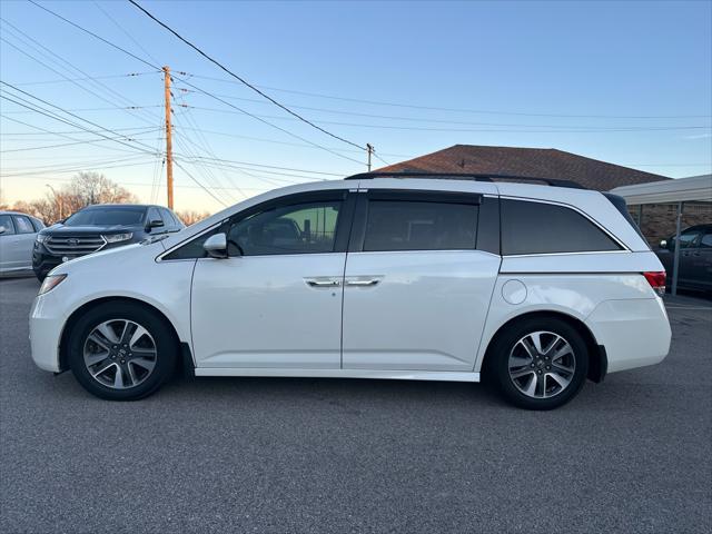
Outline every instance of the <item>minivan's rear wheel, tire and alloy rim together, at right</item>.
[(495, 340), (494, 379), (512, 404), (552, 409), (581, 390), (589, 372), (586, 344), (567, 323), (531, 318), (508, 328)]

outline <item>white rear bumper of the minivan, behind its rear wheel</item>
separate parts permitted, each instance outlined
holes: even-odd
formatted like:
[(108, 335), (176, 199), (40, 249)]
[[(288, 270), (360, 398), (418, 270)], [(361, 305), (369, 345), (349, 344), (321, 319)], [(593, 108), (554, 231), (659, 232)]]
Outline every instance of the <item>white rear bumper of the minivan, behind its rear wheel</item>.
[(605, 300), (586, 325), (607, 355), (607, 373), (662, 362), (670, 352), (672, 332), (661, 298)]

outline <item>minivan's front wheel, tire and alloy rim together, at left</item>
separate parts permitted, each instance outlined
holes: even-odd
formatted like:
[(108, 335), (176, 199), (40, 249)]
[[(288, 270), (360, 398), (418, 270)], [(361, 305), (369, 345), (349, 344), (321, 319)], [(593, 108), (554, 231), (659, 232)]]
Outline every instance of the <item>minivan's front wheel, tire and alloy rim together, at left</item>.
[(135, 400), (156, 392), (172, 374), (178, 347), (165, 319), (129, 303), (90, 309), (69, 336), (69, 366), (91, 394)]

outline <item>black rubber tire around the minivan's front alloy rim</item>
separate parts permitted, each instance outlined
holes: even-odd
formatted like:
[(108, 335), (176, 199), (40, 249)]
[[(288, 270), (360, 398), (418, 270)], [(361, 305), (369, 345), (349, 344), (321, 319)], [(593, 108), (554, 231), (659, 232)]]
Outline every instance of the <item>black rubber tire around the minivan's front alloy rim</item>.
[[(127, 319), (142, 326), (155, 345), (152, 369), (142, 382), (137, 380), (135, 386), (122, 389), (109, 387), (95, 378), (85, 364), (85, 344), (88, 343), (88, 336), (97, 326), (116, 319)], [(178, 362), (178, 343), (170, 325), (156, 312), (137, 304), (106, 303), (89, 309), (75, 323), (68, 339), (68, 360), (75, 377), (89, 393), (108, 400), (138, 400), (151, 395), (174, 375)], [(116, 360), (111, 364), (118, 366)]]

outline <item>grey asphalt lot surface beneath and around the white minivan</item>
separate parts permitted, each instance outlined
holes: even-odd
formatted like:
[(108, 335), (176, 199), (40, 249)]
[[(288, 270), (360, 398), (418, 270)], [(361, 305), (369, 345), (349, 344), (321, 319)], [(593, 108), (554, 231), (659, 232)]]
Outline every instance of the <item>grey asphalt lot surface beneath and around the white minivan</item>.
[(0, 280), (2, 533), (696, 533), (712, 524), (712, 303), (660, 365), (554, 412), (482, 385), (178, 379), (110, 403), (30, 359)]

